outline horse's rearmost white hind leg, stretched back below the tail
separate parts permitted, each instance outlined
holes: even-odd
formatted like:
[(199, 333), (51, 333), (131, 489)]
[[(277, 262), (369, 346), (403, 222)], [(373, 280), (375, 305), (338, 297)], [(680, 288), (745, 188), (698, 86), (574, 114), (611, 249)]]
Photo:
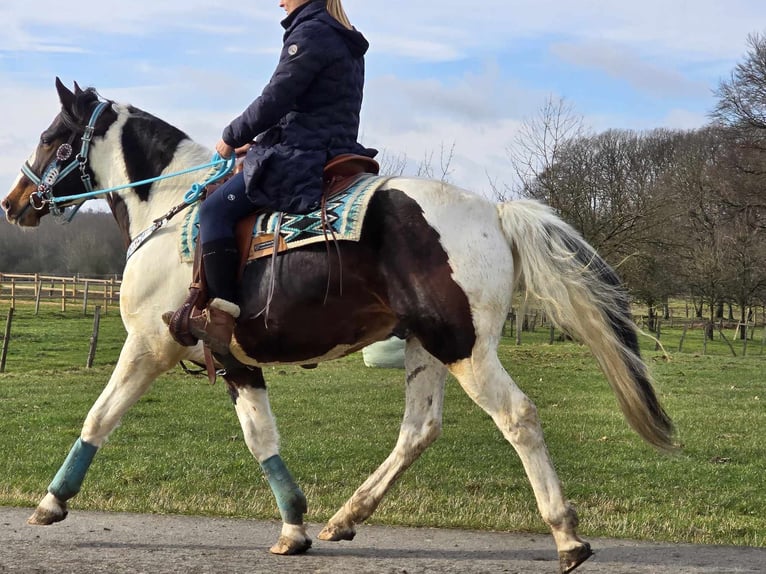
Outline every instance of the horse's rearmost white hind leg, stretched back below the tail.
[(477, 341), (472, 356), (450, 365), (450, 372), (516, 449), (540, 514), (553, 532), (561, 572), (571, 572), (591, 555), (590, 545), (575, 532), (577, 513), (564, 499), (543, 440), (537, 408), (503, 369), (495, 345)]

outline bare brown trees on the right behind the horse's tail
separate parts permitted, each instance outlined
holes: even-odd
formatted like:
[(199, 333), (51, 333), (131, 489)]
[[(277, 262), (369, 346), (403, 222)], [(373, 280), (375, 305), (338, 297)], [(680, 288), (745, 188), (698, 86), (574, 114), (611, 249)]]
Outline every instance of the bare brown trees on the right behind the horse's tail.
[(518, 183), (497, 195), (556, 209), (650, 312), (685, 296), (697, 317), (729, 305), (746, 322), (766, 304), (766, 36), (748, 45), (700, 129), (586, 133), (549, 100), (509, 147)]

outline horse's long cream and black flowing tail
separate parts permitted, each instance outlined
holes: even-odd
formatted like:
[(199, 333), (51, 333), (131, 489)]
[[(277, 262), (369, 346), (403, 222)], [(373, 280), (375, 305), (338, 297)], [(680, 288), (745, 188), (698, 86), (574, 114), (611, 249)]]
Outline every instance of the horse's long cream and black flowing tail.
[(498, 212), (525, 296), (590, 348), (630, 426), (655, 447), (672, 449), (673, 422), (652, 388), (615, 272), (550, 208), (513, 201), (499, 204)]

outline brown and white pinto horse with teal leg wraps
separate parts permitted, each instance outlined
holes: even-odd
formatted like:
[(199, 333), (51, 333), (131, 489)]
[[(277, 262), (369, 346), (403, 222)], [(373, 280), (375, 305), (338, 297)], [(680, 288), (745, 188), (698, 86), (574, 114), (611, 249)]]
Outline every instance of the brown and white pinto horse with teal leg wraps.
[[(210, 150), (161, 119), (103, 100), (92, 88), (75, 84), (72, 91), (58, 78), (56, 88), (61, 112), (2, 201), (7, 219), (36, 226), (47, 213), (85, 201), (86, 190), (117, 187), (105, 196), (124, 236), (134, 239), (182, 202), (199, 179), (186, 170), (209, 161)], [(79, 170), (65, 165), (73, 149), (80, 149), (72, 160)], [(182, 347), (162, 320), (184, 301), (191, 278), (191, 264), (179, 257), (181, 227), (168, 221), (127, 260), (120, 293), (125, 345), (31, 524), (65, 518), (96, 451), (158, 375), (179, 361), (203, 360), (201, 344)], [(577, 536), (577, 514), (562, 492), (536, 408), (497, 356), (514, 286), (589, 347), (633, 429), (659, 449), (673, 446), (673, 424), (640, 358), (619, 279), (574, 229), (537, 202), (495, 204), (441, 181), (392, 177), (370, 200), (358, 241), (300, 247), (269, 259), (249, 263), (241, 277), (233, 344), (252, 360), (227, 364), (224, 379), (283, 518), (274, 553), (304, 552), (311, 539), (303, 522), (306, 499), (279, 456), (259, 366), (318, 363), (397, 332), (407, 342), (396, 446), (319, 538), (354, 538), (356, 525), (439, 436), (449, 372), (521, 458), (551, 528), (560, 571), (570, 572), (591, 555)], [(267, 298), (264, 320), (258, 315)]]

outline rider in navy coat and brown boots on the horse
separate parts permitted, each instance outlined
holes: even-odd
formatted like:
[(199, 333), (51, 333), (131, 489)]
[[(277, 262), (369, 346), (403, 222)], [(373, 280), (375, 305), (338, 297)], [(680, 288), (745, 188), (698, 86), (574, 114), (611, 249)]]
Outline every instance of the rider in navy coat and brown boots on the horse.
[(229, 352), (236, 318), (239, 254), (234, 227), (267, 207), (308, 213), (320, 206), (322, 169), (335, 156), (376, 150), (357, 142), (369, 44), (341, 0), (280, 0), (287, 12), (282, 53), (261, 95), (223, 130), (216, 151), (249, 147), (241, 173), (200, 206), (202, 261), (210, 303), (190, 332)]

